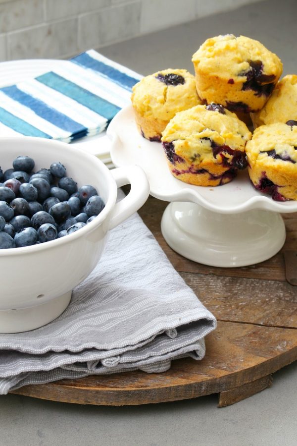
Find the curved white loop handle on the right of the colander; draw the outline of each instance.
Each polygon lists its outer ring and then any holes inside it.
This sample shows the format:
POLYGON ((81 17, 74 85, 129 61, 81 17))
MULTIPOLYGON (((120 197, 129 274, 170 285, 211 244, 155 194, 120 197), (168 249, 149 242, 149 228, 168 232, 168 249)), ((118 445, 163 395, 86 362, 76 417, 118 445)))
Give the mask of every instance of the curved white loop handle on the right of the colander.
POLYGON ((131 184, 129 194, 118 201, 112 212, 109 229, 122 223, 147 201, 149 195, 148 178, 139 166, 125 166, 110 170, 118 187, 131 184))

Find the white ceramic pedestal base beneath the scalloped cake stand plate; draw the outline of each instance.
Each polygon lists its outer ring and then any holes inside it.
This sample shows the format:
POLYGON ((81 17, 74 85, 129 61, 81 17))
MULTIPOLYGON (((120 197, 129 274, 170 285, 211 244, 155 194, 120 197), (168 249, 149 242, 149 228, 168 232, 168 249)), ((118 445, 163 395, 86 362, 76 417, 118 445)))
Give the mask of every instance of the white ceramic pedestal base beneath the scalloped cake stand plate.
POLYGON ((168 245, 187 259, 226 268, 263 262, 282 248, 286 238, 285 224, 276 212, 219 214, 183 202, 167 206, 161 231, 168 245))

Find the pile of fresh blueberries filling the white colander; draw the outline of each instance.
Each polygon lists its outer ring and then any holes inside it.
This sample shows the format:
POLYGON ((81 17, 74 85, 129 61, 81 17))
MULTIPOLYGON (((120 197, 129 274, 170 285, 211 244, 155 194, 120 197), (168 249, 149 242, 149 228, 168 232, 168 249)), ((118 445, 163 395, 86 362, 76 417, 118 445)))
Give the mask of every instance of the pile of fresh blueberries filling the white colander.
POLYGON ((80 188, 59 162, 34 172, 31 157, 0 167, 0 249, 36 245, 77 231, 104 208, 95 187, 80 188))

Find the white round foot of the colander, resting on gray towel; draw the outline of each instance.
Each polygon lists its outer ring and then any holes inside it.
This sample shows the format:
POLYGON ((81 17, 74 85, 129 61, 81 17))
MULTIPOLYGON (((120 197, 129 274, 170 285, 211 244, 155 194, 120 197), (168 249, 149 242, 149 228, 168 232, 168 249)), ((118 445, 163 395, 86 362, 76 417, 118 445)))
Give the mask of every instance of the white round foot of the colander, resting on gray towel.
MULTIPOLYGON (((0 310, 0 333, 21 333, 42 327, 60 316, 69 305, 72 291, 35 307, 0 310)), ((40 296, 42 300, 42 296, 40 296)))

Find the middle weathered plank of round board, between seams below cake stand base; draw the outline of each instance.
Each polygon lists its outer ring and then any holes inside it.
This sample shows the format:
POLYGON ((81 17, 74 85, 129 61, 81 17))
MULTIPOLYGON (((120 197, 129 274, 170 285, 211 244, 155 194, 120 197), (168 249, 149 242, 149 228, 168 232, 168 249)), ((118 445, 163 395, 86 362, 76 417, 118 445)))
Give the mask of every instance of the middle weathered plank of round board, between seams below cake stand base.
POLYGON ((181 276, 217 319, 297 328, 297 288, 288 282, 193 273, 181 276))

